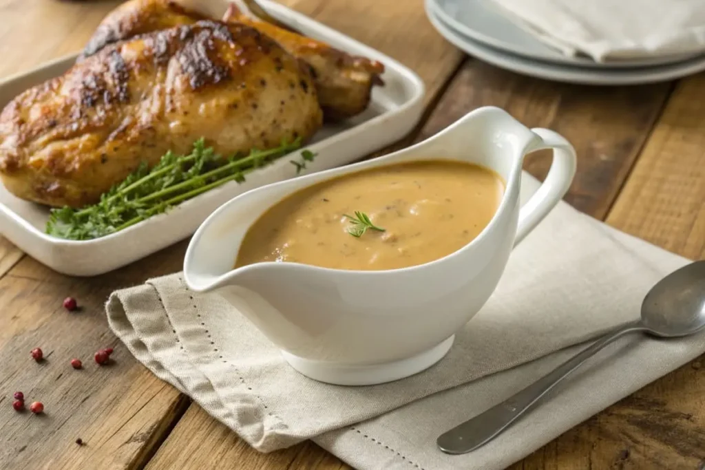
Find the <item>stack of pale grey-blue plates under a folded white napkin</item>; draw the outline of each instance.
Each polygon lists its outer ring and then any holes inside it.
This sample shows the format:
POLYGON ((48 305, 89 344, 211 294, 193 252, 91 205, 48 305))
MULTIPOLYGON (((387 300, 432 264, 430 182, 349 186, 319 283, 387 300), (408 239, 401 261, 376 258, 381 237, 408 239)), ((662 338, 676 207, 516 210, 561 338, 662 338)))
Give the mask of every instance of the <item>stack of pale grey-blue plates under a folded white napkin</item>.
POLYGON ((491 0, 426 0, 443 37, 494 66, 532 77, 588 85, 662 82, 705 70, 705 54, 596 62, 566 56, 503 16, 491 0))

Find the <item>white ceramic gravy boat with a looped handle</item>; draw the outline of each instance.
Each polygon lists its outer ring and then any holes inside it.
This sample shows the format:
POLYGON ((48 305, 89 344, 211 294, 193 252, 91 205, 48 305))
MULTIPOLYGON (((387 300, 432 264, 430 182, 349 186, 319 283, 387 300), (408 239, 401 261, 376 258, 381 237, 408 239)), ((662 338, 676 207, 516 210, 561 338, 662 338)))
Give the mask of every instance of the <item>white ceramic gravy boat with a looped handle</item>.
POLYGON ((513 246, 568 190, 575 160, 571 145, 556 132, 529 130, 501 109, 480 108, 407 149, 259 187, 223 204, 192 237, 185 282, 196 292, 222 295, 305 376, 339 385, 410 376, 439 361, 454 334, 489 299, 513 246), (545 148, 554 149, 551 170, 520 208, 524 156, 545 148), (494 218, 457 252, 388 271, 274 262, 233 269, 247 229, 289 194, 364 168, 428 159, 478 163, 506 182, 494 218))

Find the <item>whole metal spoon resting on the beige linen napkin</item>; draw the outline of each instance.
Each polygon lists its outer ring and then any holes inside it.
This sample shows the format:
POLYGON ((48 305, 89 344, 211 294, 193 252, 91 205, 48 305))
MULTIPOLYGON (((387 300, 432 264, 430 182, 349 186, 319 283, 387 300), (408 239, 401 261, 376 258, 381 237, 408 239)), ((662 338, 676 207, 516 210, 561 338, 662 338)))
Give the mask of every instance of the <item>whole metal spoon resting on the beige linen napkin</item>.
POLYGON ((660 338, 696 333, 705 326, 705 261, 695 261, 661 279, 642 302, 642 319, 607 333, 524 390, 439 436, 447 454, 465 454, 494 439, 589 357, 617 338, 642 331, 660 338))

